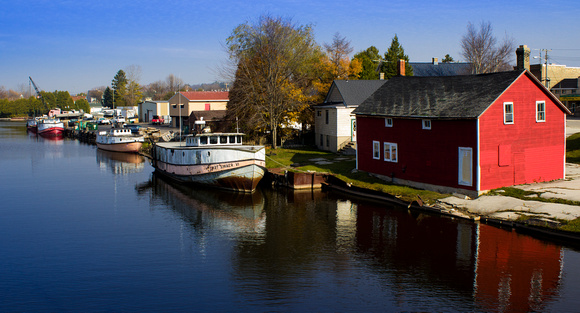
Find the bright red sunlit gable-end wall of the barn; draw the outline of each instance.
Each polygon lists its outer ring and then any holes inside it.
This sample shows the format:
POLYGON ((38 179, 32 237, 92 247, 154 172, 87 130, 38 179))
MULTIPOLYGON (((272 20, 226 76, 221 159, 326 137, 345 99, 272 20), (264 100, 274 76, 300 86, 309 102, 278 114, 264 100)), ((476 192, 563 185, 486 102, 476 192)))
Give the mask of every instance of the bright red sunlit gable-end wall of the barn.
POLYGON ((481 190, 564 178, 565 114, 526 75, 480 117, 479 130, 481 190), (546 102, 545 122, 536 122, 536 101, 546 102), (513 124, 503 123, 504 102, 514 104, 513 124), (505 147, 511 156, 500 158, 505 147))

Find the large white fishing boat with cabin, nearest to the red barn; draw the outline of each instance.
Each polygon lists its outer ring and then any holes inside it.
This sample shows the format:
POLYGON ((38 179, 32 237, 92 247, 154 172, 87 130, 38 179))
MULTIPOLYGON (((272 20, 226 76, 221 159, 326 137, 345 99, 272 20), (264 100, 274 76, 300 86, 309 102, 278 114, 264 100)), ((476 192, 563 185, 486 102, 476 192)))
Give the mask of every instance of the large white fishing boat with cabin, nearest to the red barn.
POLYGON ((253 192, 264 177, 266 148, 242 144, 241 133, 203 133, 158 142, 153 167, 177 181, 253 192))

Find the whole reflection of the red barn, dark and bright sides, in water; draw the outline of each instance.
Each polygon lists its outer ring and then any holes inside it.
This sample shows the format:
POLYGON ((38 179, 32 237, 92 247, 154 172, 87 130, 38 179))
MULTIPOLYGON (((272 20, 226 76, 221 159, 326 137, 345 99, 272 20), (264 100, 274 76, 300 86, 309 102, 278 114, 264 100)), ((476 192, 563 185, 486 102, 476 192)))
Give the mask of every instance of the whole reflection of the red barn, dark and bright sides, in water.
POLYGON ((486 312, 541 311, 557 297, 563 266, 558 245, 412 211, 367 205, 357 211, 359 251, 394 273, 390 283, 401 297, 412 288, 425 295, 445 289, 473 298, 471 309, 486 312))

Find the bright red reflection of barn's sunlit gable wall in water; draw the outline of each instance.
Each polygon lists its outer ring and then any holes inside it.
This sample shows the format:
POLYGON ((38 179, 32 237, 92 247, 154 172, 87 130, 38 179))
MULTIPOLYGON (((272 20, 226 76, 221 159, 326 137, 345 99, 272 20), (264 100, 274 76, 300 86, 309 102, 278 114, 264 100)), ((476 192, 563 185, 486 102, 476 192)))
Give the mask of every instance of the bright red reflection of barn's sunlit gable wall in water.
POLYGON ((558 297, 560 246, 481 225, 478 251, 474 295, 483 310, 539 312, 558 297))

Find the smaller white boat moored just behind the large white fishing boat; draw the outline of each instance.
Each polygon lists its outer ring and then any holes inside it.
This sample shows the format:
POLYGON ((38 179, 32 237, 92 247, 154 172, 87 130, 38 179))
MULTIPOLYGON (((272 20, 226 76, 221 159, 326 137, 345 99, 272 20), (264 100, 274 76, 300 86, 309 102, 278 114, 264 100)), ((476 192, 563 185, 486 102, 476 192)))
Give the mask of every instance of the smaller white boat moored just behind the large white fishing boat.
POLYGON ((128 128, 112 128, 97 133, 97 148, 115 152, 139 152, 145 138, 133 135, 128 128))

